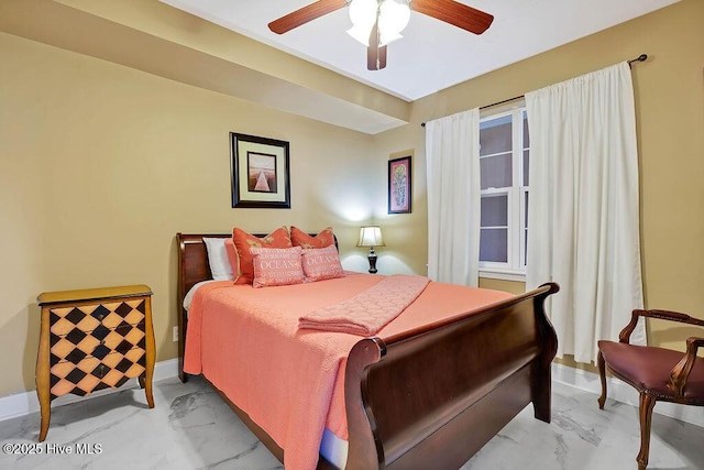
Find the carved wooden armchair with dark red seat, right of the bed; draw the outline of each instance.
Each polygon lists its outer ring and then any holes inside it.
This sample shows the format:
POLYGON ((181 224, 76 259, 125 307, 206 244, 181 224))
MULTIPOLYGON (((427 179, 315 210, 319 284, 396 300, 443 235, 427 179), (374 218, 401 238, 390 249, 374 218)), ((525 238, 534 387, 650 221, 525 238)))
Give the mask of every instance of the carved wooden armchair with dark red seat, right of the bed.
MULTIPOLYGON (((598 407, 606 402, 606 369, 635 387, 640 394, 640 452, 636 458, 638 470, 648 466, 650 424, 656 402, 704 406, 704 358, 697 349, 704 346, 702 337, 686 340, 686 352, 653 346, 630 345, 630 334, 638 318, 649 317, 704 327, 704 320, 668 310, 634 310, 630 323, 618 335, 618 342, 598 341, 598 373, 602 396, 598 407)), ((684 346, 684 345, 683 345, 684 346)))

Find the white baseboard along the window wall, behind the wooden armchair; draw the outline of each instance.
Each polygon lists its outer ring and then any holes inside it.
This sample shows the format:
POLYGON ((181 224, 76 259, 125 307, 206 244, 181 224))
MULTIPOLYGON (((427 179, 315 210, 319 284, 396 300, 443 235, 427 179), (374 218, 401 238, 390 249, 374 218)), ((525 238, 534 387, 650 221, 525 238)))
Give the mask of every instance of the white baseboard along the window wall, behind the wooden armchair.
MULTIPOLYGON (((552 363, 552 380, 585 392, 602 394, 598 374, 582 369, 552 363)), ((636 389, 615 378, 606 379, 606 397, 638 407, 639 396, 636 389)), ((598 406, 596 400, 594 406, 598 406)), ((696 426, 704 427, 704 407, 678 405, 668 402, 657 402, 653 413, 670 416, 696 426)))

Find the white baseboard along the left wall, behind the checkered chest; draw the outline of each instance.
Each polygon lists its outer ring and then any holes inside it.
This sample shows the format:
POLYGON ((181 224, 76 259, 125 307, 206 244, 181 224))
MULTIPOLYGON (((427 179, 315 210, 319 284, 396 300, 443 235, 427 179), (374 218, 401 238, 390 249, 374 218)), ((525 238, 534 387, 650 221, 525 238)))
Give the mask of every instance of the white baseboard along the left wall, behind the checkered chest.
MULTIPOLYGON (((178 359, 169 359, 154 364, 154 382, 175 376, 178 376, 178 359)), ((103 396, 133 386, 136 386, 136 379, 127 381, 119 389, 103 389, 87 396, 77 396, 72 394, 63 395, 53 400, 52 406, 61 406, 68 403, 75 403, 80 400, 103 396)), ((16 393, 14 395, 0 397, 0 422, 18 416, 29 415, 30 413, 36 413, 38 411, 40 401, 36 397, 36 391, 34 390, 31 392, 16 393)))

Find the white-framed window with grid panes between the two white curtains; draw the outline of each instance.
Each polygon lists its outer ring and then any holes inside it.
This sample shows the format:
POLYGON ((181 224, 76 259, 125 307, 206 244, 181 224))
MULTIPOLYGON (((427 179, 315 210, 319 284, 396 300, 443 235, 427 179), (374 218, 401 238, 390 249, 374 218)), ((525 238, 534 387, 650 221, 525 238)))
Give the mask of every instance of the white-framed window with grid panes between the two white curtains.
POLYGON ((522 280, 530 144, 525 105, 480 121, 480 275, 522 280))

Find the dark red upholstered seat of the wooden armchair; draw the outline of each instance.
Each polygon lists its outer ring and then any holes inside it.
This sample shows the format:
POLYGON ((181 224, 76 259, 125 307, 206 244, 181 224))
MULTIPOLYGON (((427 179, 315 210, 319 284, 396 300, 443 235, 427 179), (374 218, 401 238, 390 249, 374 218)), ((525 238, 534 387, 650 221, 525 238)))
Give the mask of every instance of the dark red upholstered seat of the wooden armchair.
MULTIPOLYGON (((681 402, 668 387, 670 372, 684 357, 684 352, 652 346, 636 346, 625 342, 598 341, 604 360, 613 372, 639 392, 645 390, 661 397, 681 402)), ((697 358, 684 389, 684 400, 704 400, 704 359, 697 358)))

